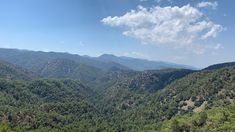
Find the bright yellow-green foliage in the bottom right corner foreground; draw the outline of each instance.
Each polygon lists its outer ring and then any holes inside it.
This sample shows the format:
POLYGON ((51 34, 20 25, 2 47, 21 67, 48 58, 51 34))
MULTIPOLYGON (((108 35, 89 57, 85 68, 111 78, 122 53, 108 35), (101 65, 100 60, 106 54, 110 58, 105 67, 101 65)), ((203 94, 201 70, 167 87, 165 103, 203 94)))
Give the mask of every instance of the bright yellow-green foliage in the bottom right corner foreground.
POLYGON ((162 122, 159 131, 235 131, 235 105, 214 107, 201 113, 177 116, 162 122))

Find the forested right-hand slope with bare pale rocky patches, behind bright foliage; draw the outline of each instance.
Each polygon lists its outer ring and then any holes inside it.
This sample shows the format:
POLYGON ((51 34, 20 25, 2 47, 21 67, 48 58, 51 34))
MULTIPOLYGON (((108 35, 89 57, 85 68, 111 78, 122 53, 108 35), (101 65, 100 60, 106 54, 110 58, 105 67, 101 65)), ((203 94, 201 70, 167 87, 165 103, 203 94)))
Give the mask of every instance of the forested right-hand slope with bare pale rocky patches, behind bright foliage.
POLYGON ((189 74, 156 93, 119 87, 107 94, 100 109, 123 130, 153 131, 158 122, 176 115, 234 104, 234 97, 235 67, 225 67, 189 74))

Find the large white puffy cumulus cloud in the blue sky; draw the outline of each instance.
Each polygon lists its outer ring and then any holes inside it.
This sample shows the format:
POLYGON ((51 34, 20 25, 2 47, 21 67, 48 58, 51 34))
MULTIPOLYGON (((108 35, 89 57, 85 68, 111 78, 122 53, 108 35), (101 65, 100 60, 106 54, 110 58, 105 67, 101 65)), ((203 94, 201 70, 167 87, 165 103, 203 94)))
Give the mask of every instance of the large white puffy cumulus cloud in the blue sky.
POLYGON ((203 12, 189 4, 182 7, 138 6, 123 16, 108 16, 101 22, 112 27, 123 27, 124 35, 136 38, 143 44, 171 44, 191 49, 196 47, 196 50, 200 49, 199 54, 204 49, 213 48, 198 43, 215 38, 224 29, 206 19, 203 12))

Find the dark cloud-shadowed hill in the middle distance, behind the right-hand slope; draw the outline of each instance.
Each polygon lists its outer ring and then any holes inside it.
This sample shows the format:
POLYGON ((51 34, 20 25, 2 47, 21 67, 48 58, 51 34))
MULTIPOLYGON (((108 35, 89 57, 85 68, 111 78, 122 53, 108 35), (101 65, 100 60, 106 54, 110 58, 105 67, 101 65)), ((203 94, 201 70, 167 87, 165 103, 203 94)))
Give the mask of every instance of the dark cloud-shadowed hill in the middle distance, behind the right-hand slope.
POLYGON ((194 71, 186 69, 164 69, 139 72, 136 76, 123 80, 117 87, 127 87, 135 92, 156 92, 176 79, 194 71))

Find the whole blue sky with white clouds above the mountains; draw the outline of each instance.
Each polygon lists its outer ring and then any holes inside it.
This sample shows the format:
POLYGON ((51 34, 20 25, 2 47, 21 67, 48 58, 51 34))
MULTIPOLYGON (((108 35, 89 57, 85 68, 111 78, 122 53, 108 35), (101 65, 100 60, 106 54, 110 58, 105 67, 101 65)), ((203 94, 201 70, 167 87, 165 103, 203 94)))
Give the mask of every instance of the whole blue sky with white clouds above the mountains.
POLYGON ((0 47, 206 67, 235 61, 233 0, 0 0, 0 47))

